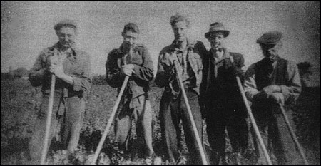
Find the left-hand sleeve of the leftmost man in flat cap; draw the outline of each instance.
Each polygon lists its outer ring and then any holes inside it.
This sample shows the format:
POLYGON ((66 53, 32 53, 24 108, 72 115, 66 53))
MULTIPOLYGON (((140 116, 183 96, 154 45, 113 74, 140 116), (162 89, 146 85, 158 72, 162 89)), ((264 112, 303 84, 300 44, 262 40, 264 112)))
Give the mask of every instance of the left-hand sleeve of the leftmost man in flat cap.
POLYGON ((46 68, 46 51, 41 51, 34 66, 29 73, 29 81, 33 86, 39 86, 44 83, 45 76, 49 74, 46 68))

